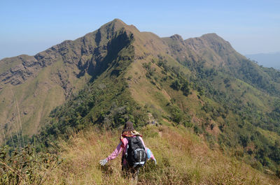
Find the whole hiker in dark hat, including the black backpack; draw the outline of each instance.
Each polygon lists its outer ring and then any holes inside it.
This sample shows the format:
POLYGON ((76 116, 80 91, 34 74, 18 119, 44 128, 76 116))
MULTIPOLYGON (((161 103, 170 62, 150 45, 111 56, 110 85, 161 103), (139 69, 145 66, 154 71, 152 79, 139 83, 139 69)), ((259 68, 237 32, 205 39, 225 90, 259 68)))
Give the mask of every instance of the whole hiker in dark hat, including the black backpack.
POLYGON ((155 165, 157 163, 151 150, 146 148, 142 139, 142 135, 134 130, 133 124, 130 121, 127 121, 125 123, 118 147, 110 156, 103 160, 100 160, 100 165, 103 166, 108 163, 108 161, 116 158, 122 150, 122 171, 125 173, 125 176, 132 175, 132 178, 136 182, 138 178, 139 168, 146 163, 147 159, 152 159, 155 162, 155 165))

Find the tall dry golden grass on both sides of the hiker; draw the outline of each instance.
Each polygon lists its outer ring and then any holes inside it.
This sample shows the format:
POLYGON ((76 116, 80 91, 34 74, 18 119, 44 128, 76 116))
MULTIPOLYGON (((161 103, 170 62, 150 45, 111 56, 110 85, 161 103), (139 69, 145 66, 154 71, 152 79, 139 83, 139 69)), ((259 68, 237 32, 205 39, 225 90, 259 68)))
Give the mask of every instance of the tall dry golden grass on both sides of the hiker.
MULTIPOLYGON (((158 165, 148 161, 139 184, 280 184, 279 179, 210 150, 185 128, 146 126, 141 132, 158 165)), ((98 163, 115 149, 118 137, 118 131, 92 129, 62 142, 64 163, 51 172, 47 184, 129 184, 121 174, 120 156, 104 168, 98 163)))

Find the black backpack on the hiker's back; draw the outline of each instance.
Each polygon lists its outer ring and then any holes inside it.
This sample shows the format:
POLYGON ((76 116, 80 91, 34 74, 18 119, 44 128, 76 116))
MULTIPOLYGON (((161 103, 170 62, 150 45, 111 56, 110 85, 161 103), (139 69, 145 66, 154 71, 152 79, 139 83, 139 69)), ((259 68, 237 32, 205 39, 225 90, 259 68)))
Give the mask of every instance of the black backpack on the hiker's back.
POLYGON ((128 143, 125 158, 127 159, 128 165, 130 168, 143 166, 147 161, 147 154, 139 136, 127 138, 127 140, 128 143))

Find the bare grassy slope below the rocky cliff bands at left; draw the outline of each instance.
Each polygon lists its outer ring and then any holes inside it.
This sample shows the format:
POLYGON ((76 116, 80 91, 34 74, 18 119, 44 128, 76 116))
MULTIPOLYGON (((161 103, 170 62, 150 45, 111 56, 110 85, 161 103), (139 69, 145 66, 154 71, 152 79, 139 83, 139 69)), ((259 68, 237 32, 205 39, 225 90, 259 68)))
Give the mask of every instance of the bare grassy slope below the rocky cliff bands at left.
MULTIPOLYGON (((48 118, 50 111, 64 103, 66 96, 56 75, 59 68, 63 68, 64 71, 68 71, 67 73, 70 74, 65 78, 75 87, 74 92, 83 88, 83 84, 90 80, 87 75, 79 79, 73 77, 73 71, 77 71, 77 68, 72 69, 60 61, 52 66, 43 68, 35 79, 27 80, 24 84, 17 86, 7 84, 0 93, 2 102, 0 104, 0 111, 2 112, 1 124, 6 124, 6 121, 9 120, 8 127, 5 130, 6 135, 18 130, 19 127, 17 128, 16 125, 20 124, 20 119, 24 134, 37 133, 40 124, 42 124, 41 122, 48 118), (15 101, 18 103, 20 118, 15 107, 15 101)), ((1 134, 0 142, 2 140, 3 135, 1 134)))

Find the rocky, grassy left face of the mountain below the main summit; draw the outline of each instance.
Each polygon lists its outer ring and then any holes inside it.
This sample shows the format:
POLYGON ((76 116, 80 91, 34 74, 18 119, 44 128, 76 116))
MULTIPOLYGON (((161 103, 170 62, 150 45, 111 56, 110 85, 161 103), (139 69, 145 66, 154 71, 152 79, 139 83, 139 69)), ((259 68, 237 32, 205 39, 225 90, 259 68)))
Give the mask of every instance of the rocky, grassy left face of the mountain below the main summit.
POLYGON ((18 130, 20 124, 23 133, 37 133, 50 110, 102 73, 108 57, 126 44, 116 44, 119 39, 125 39, 121 38, 125 36, 120 30, 122 26, 121 21, 111 22, 82 38, 66 40, 35 56, 2 59, 0 120, 5 134, 18 130), (120 33, 116 33, 117 30, 120 33))

